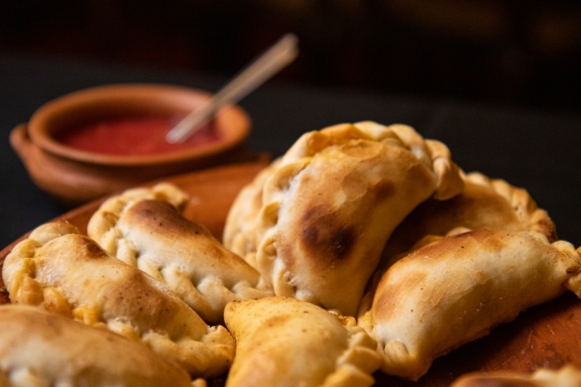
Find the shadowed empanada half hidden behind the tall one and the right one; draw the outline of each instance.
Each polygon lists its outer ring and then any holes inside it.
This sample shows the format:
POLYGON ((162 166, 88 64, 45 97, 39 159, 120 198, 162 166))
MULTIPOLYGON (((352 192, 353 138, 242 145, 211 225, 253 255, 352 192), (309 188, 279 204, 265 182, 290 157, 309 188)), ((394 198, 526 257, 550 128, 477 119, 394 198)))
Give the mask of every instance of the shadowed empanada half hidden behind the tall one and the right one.
POLYGON ((446 235, 491 228, 510 232, 536 231, 557 241, 555 224, 539 209, 528 192, 504 180, 492 180, 478 172, 463 175, 464 192, 448 200, 428 199, 413 210, 393 231, 383 249, 377 272, 357 312, 371 309, 379 278, 389 266, 408 253, 446 235))

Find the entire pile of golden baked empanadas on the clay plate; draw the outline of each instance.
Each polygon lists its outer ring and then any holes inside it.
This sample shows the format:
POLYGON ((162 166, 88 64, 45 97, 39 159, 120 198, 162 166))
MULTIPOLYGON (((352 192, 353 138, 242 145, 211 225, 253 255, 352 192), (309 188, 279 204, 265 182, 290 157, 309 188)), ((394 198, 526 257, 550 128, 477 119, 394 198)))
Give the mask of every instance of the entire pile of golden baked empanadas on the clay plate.
MULTIPOLYGON (((17 244, 0 387, 415 381, 528 307, 581 298, 579 250, 525 190, 400 124, 304 134, 239 193, 224 245, 187 204, 170 184, 130 189, 88 237, 48 223, 17 244)), ((569 368, 539 375, 457 386, 578 387, 569 368)))

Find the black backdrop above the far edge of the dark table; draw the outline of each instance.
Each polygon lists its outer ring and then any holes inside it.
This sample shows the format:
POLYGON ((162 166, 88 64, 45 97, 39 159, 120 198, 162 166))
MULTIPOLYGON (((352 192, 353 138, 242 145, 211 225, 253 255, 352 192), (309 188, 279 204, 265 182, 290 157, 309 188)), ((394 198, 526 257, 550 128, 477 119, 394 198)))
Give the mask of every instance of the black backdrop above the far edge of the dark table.
POLYGON ((278 80, 579 110, 567 0, 3 0, 0 50, 231 76, 292 31, 278 80))

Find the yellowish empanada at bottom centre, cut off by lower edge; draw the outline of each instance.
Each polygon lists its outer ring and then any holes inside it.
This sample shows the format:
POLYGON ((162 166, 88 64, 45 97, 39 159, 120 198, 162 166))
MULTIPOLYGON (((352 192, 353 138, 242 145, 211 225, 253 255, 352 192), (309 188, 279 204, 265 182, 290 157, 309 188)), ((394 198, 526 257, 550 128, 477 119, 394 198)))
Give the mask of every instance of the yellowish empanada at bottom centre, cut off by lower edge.
POLYGON ((382 361, 353 317, 302 300, 231 302, 224 320, 236 339, 227 387, 371 386, 382 361))

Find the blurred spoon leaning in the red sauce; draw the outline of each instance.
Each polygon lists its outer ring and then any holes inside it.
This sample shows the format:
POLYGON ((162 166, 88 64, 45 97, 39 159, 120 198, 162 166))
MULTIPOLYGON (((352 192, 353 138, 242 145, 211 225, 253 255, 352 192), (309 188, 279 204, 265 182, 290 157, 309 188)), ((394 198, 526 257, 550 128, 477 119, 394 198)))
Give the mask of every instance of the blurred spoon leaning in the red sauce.
POLYGON ((254 89, 284 69, 299 55, 299 39, 295 34, 285 34, 260 58, 249 64, 238 76, 218 91, 212 98, 189 113, 166 135, 167 142, 184 142, 203 124, 210 121, 221 107, 244 98, 254 89))

